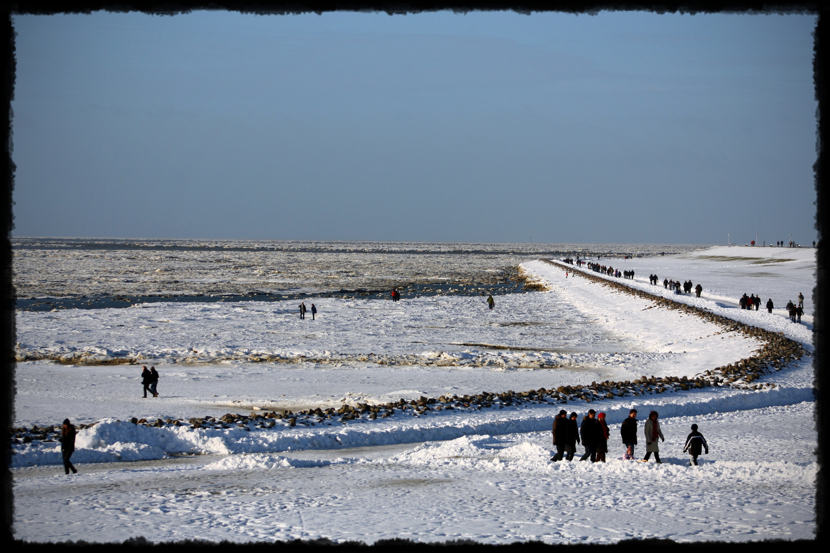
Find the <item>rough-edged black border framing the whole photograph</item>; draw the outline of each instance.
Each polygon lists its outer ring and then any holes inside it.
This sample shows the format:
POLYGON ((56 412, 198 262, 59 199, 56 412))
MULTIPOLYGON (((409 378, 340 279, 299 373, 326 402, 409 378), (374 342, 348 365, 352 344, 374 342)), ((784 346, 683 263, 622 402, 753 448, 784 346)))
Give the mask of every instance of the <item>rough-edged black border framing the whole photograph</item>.
MULTIPOLYGON (((152 2, 144 0, 126 0, 125 2, 101 2, 100 0, 22 0, 20 2, 2 2, 0 7, 0 46, 2 46, 2 97, 0 97, 0 126, 4 129, 4 152, 0 152, 0 390, 2 390, 2 403, 0 403, 0 429, 5 430, 12 423, 12 407, 16 393, 14 380, 14 356, 13 346, 16 338, 15 327, 15 289, 12 281, 12 245, 11 232, 14 228, 14 215, 12 192, 14 190, 15 165, 12 162, 12 99, 14 99, 14 80, 16 68, 15 56, 15 31, 12 27, 12 14, 52 14, 52 13, 91 13, 97 11, 109 12, 145 12, 156 15, 176 15, 192 12, 195 10, 224 10, 242 13, 257 14, 288 14, 303 12, 331 12, 331 11, 362 11, 362 12, 386 12, 389 15, 405 14, 414 12, 430 12, 437 10, 453 10, 455 12, 471 12, 476 10, 510 10, 519 13, 530 14, 531 12, 570 12, 596 14, 600 11, 652 11, 657 13, 680 12, 680 13, 813 13, 818 15, 818 22, 813 34, 813 84, 815 86, 818 109, 816 112, 816 163, 813 165, 813 174, 816 190, 816 216, 815 229, 818 230, 818 267, 816 271, 816 288, 813 289, 813 302, 816 305, 816 317, 813 324, 813 344, 815 354, 813 357, 813 394, 816 399, 815 424, 818 429, 818 474, 816 477, 816 536, 815 541, 821 543, 827 541, 827 507, 824 498, 828 493, 828 468, 826 466, 825 454, 828 447, 828 435, 823 432, 830 428, 828 424, 828 406, 823 404, 822 390, 828 387, 827 373, 827 333, 825 332, 825 313, 828 311, 828 249, 824 244, 823 230, 830 229, 830 206, 828 196, 825 193, 828 178, 828 133, 830 125, 822 125, 823 109, 828 110, 828 29, 830 29, 830 9, 821 8, 820 2, 804 1, 792 2, 788 0, 774 0, 773 2, 757 2, 751 0, 173 0, 173 2, 152 2)), ((7 443, 8 444, 8 443, 7 443)), ((2 479, 0 479, 0 501, 2 501, 2 542, 9 546, 22 546, 22 543, 14 541, 12 535, 13 521, 13 496, 12 496, 12 472, 9 468, 11 463, 11 449, 3 448, 2 451, 2 479)), ((781 542, 777 545, 784 546, 809 546, 809 542, 799 541, 798 543, 781 542)), ((80 544, 79 544, 80 545, 80 544)), ((101 544, 99 548, 110 549, 114 544, 101 544)), ((131 539, 126 541, 124 546, 149 546, 146 541, 131 539)), ((182 546, 196 546, 191 542, 179 544, 182 546)), ((302 548, 319 546, 317 543, 291 544, 291 548, 302 548)), ((447 543, 457 548, 471 549, 474 546, 471 542, 447 543)), ((545 547, 542 544, 524 544, 525 546, 545 547)), ((637 544, 631 542, 621 543, 617 548, 635 546, 642 551, 648 546, 671 546, 672 548, 687 549, 691 544, 676 544, 669 540, 642 541, 637 544)), ((691 546, 699 547, 705 544, 697 543, 691 546)), ((706 545, 716 545, 707 542, 706 545)), ((724 544, 725 545, 725 544, 724 544)), ((770 544, 771 545, 771 544, 770 544)), ((232 545, 223 543, 217 545, 222 550, 238 549, 244 545, 232 545)), ((347 548, 355 548, 358 544, 344 544, 347 548)), ((380 546, 380 544, 378 544, 380 546)), ((413 549, 417 547, 431 547, 424 544, 416 544, 409 541, 398 541, 398 543, 385 543, 383 548, 392 546, 395 549, 413 549)), ((440 545, 438 545, 441 547, 440 545)), ((96 547, 96 546, 93 546, 96 547)), ((155 546, 158 547, 158 546, 155 546)), ((330 547, 330 546, 329 546, 330 547)), ((477 546, 481 547, 481 546, 477 546)), ((504 548, 505 546, 494 546, 504 548)), ((510 546, 506 546, 510 547, 510 546)), ((546 546, 546 548, 567 547, 569 550, 574 546, 546 546)), ((608 546, 577 546, 578 549, 596 549, 608 546)), ((730 547, 749 550, 755 547, 753 543, 732 543, 730 547)), ((366 547, 359 547, 365 549, 366 547)), ((526 547, 525 547, 526 549, 526 547)))

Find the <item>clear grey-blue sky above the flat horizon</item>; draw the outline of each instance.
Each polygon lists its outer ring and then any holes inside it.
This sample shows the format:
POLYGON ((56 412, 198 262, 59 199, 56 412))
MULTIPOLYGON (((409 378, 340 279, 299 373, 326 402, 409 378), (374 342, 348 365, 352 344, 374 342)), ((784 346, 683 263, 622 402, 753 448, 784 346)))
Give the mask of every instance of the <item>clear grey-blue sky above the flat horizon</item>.
POLYGON ((813 16, 13 21, 16 236, 817 237, 813 16))

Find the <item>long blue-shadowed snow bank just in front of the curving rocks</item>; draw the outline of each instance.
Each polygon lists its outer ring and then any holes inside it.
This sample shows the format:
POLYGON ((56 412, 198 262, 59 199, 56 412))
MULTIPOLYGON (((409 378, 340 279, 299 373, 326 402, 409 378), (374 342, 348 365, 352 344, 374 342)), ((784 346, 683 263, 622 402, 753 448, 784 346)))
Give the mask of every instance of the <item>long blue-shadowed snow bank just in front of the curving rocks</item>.
MULTIPOLYGON (((797 361, 800 365, 807 365, 797 361)), ((802 367, 801 370, 807 370, 802 367)), ((762 390, 709 388, 676 391, 663 395, 603 400, 594 405, 607 414, 608 423, 622 422, 632 406, 642 412, 657 410, 662 417, 700 416, 736 410, 752 410, 770 405, 793 405, 813 400, 808 387, 776 386, 762 390)), ((461 412, 425 412, 398 415, 397 420, 334 420, 311 424, 296 419, 279 421, 278 428, 265 428, 264 419, 229 420, 224 428, 193 428, 164 424, 159 427, 115 419, 101 420, 81 429, 73 459, 79 463, 137 461, 165 458, 168 454, 251 454, 302 449, 342 449, 388 444, 457 439, 466 435, 499 435, 549 430, 550 421, 560 409, 583 413, 590 401, 546 402, 502 410, 467 409, 461 412)), ((159 421, 160 422, 160 421, 159 421)), ((60 464, 59 445, 33 441, 14 446, 12 466, 60 464)))

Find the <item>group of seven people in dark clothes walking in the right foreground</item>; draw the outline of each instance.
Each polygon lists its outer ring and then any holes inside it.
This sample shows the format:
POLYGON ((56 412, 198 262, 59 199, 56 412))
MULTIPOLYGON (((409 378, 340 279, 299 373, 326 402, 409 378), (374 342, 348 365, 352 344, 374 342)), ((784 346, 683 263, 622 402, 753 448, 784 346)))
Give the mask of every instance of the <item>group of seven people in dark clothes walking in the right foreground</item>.
MULTIPOLYGON (((585 448, 585 454, 579 458, 580 461, 590 458, 591 463, 605 463, 605 455, 608 454, 608 439, 610 438, 605 413, 597 414, 593 409, 588 410, 588 414, 583 417, 579 428, 577 427, 577 416, 576 413, 568 415, 567 411, 560 410, 559 415, 554 419, 553 434, 556 454, 550 460, 554 463, 563 459, 574 460, 576 444, 581 443, 585 448)), ((657 411, 652 411, 644 425, 646 456, 639 459, 641 463, 647 463, 652 454, 654 454, 655 462, 662 463, 659 442, 665 442, 666 438, 663 436, 660 423, 657 421, 658 416, 657 411)), ((635 458, 634 448, 637 446, 636 409, 628 412, 626 420, 620 426, 620 434, 623 445, 626 447, 623 459, 633 460, 635 458)), ((688 452, 691 455, 690 466, 697 464, 697 457, 701 454, 701 449, 705 449, 706 454, 709 454, 709 444, 706 444, 703 434, 697 431, 697 424, 692 424, 691 434, 686 437, 686 444, 683 447, 683 452, 688 452)))

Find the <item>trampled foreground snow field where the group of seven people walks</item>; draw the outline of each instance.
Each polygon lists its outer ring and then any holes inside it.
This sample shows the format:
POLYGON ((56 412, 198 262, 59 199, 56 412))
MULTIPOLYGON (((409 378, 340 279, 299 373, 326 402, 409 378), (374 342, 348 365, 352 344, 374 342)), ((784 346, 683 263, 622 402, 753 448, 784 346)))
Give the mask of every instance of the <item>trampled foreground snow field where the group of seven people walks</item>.
POLYGON ((604 464, 549 463, 550 434, 540 431, 408 449, 93 465, 71 478, 56 468, 24 468, 16 473, 15 526, 24 539, 30 532, 41 540, 83 532, 88 541, 809 539, 812 414, 806 402, 664 419, 659 466, 619 460, 619 424, 612 424, 604 464), (697 468, 687 467, 680 451, 691 420, 710 444, 697 468), (806 424, 788 424, 794 420, 806 424), (43 508, 53 516, 42 517, 43 508))

